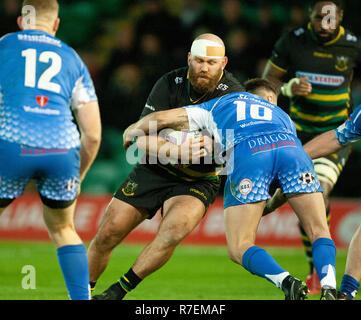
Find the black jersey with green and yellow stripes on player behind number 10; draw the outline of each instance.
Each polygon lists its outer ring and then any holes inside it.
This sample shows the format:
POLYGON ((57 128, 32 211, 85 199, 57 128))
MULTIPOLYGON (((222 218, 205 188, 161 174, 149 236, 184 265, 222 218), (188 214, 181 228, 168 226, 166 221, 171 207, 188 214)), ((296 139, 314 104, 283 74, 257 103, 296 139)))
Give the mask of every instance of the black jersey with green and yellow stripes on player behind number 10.
POLYGON ((289 78, 308 77, 312 92, 290 99, 289 113, 298 131, 319 134, 342 124, 352 111, 350 85, 361 64, 361 42, 340 27, 337 37, 319 43, 311 25, 285 33, 270 63, 289 78))

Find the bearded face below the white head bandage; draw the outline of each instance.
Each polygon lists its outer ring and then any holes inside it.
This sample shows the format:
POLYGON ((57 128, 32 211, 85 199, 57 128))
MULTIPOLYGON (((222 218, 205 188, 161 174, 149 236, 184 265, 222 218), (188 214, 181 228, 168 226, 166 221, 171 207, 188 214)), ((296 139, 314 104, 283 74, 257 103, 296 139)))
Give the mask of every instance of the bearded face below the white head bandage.
POLYGON ((222 75, 225 58, 204 58, 190 56, 188 59, 189 80, 198 93, 213 91, 222 75))

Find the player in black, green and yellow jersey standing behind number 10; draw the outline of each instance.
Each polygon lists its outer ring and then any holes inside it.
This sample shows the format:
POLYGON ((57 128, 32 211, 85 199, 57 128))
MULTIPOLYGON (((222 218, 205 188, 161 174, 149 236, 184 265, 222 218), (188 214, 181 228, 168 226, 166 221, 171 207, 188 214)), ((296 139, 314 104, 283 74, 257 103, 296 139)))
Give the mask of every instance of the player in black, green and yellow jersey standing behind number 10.
MULTIPOLYGON (((342 27, 343 2, 311 1, 307 26, 285 33, 275 44, 264 77, 281 87, 290 98, 289 114, 303 143, 341 125, 352 111, 350 85, 361 65, 361 42, 342 27), (281 81, 288 81, 282 83, 281 81)), ((321 182, 328 221, 329 195, 349 157, 350 147, 314 160, 321 182)), ((267 203, 265 214, 285 202, 279 190, 267 203)), ((311 293, 320 290, 313 268, 311 243, 302 227, 310 273, 311 293)))

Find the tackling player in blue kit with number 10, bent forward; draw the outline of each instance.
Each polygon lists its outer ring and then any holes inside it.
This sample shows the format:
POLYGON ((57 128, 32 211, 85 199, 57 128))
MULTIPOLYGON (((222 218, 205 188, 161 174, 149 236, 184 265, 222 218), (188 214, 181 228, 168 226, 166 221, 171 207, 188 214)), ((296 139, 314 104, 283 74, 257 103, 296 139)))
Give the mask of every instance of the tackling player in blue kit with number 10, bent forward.
MULTIPOLYGON (((246 270, 282 289, 287 300, 303 300, 307 286, 262 248, 256 232, 271 184, 280 187, 312 242, 321 299, 336 299, 336 248, 325 217, 322 190, 313 164, 290 117, 275 104, 277 91, 265 79, 246 83, 248 92, 230 93, 198 105, 152 113, 124 133, 127 148, 149 127, 210 131, 228 153, 224 189, 229 256, 246 270)), ((220 153, 220 154, 221 154, 220 153)))

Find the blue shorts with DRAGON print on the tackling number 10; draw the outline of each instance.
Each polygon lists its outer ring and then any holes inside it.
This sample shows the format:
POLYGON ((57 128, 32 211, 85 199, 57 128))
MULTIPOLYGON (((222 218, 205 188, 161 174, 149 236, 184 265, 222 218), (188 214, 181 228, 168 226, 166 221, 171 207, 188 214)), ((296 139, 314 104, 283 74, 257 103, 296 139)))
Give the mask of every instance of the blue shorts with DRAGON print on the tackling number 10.
POLYGON ((270 186, 284 194, 322 192, 310 157, 291 134, 252 137, 234 147, 227 161, 224 208, 270 198, 270 186))

